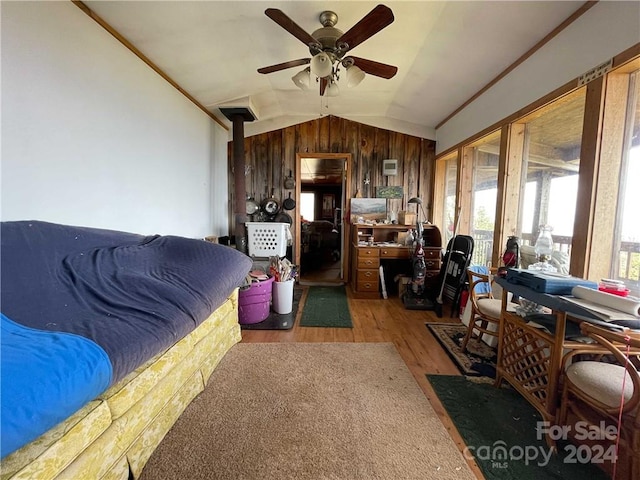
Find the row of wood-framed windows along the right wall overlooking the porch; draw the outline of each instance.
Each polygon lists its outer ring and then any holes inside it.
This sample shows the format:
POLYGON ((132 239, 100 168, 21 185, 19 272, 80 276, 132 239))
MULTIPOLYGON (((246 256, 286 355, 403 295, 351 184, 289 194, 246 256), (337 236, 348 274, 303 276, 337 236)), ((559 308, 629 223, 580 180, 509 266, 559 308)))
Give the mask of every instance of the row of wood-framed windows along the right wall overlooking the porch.
POLYGON ((526 251, 536 261, 540 225, 550 225, 552 259, 563 269, 594 281, 623 280, 640 296, 637 46, 612 63, 614 70, 603 77, 578 88, 578 79, 569 82, 554 92, 557 97, 538 99, 494 124, 493 133, 478 133, 436 158, 433 218, 443 234, 452 232, 454 195, 445 179, 449 162, 457 159, 454 210, 458 232, 476 241, 474 263, 487 263, 491 253, 500 262, 501 246, 492 244, 517 235, 526 268, 526 251))

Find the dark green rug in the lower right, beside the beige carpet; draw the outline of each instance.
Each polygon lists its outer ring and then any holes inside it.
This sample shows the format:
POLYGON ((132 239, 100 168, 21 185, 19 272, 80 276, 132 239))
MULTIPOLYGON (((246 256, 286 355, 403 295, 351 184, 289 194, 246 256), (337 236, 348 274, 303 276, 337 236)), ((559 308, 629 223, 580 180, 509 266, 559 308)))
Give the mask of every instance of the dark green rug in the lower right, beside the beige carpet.
POLYGON ((550 453, 544 436, 538 439, 542 417, 511 387, 498 389, 463 375, 427 379, 467 445, 465 456, 475 458, 485 478, 608 478, 591 463, 598 456, 595 449, 576 452, 574 445, 558 442, 559 453, 550 453))

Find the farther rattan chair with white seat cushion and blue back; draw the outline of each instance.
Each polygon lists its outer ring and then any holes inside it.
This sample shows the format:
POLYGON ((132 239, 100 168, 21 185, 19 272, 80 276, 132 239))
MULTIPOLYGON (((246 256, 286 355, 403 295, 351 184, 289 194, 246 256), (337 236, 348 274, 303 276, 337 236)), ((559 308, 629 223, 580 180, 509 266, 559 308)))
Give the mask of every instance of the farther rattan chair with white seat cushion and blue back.
POLYGON ((492 280, 489 274, 468 268, 467 276, 469 279, 471 318, 467 327, 467 335, 461 345, 463 352, 466 352, 467 343, 472 338, 481 339, 483 334, 498 337, 502 309, 502 300, 493 297, 491 290, 492 280))

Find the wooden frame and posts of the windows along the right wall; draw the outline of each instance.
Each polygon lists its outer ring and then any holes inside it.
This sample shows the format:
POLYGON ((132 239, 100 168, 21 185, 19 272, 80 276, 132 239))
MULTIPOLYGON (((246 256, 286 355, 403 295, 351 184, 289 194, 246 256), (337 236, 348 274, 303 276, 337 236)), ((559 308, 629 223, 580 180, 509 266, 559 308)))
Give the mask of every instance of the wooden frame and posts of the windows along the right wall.
MULTIPOLYGON (((570 273, 582 278, 597 280, 605 278, 609 274, 608 266, 610 265, 610 252, 612 251, 615 227, 611 225, 608 228, 608 224, 615 222, 615 216, 611 215, 611 207, 612 201, 617 201, 617 195, 609 196, 614 197, 614 200, 610 200, 603 198, 606 197, 605 195, 598 196, 597 191, 598 189, 606 191, 603 189, 606 189, 607 186, 610 188, 612 180, 605 172, 616 170, 612 168, 611 164, 605 163, 605 158, 610 159, 610 156, 614 155, 616 151, 619 153, 618 157, 621 158, 620 149, 623 143, 621 137, 624 132, 623 129, 620 129, 620 123, 617 123, 620 113, 619 108, 615 108, 615 105, 620 101, 626 102, 628 88, 626 90, 622 88, 624 86, 624 76, 626 75, 628 78, 628 74, 637 70, 638 65, 640 65, 640 43, 616 55, 613 58, 611 72, 587 84, 580 148, 580 180, 570 264, 570 273), (614 101, 614 98, 617 100, 614 101), (596 228, 596 225, 598 225, 598 228, 596 228), (606 269, 604 268, 605 264, 607 266, 606 269)), ((518 142, 523 141, 519 140, 522 135, 519 133, 519 125, 521 124, 518 123, 518 120, 581 87, 583 85, 579 84, 579 79, 571 80, 530 105, 514 112, 507 118, 496 122, 436 156, 435 185, 438 185, 444 182, 443 172, 437 168, 438 161, 451 155, 452 152, 458 153, 456 211, 461 212, 460 215, 462 217, 459 221, 458 233, 468 233, 471 230, 469 202, 473 178, 470 172, 473 159, 470 158, 468 148, 478 139, 497 129, 501 130, 498 197, 492 252, 493 265, 499 264, 502 246, 506 243, 507 237, 512 235, 512 232, 518 231, 518 215, 513 215, 506 208, 507 205, 512 203, 509 200, 513 200, 516 196, 518 201, 521 201, 522 158, 518 158, 518 155, 514 153, 518 151, 518 142), (464 208, 465 206, 466 208, 464 208)), ((618 171, 619 168, 615 173, 617 174, 618 171)), ((436 192, 437 189, 434 189, 434 195, 436 192)), ((433 205, 437 205, 438 202, 442 201, 441 196, 440 198, 432 198, 433 205)), ((518 211, 520 211, 520 208, 518 211)))

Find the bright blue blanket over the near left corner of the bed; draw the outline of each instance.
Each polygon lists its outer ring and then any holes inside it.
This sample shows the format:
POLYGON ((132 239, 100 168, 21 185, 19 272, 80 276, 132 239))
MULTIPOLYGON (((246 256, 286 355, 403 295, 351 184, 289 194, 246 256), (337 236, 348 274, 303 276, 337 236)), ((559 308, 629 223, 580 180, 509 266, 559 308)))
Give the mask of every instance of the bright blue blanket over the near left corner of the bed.
POLYGON ((104 391, 111 363, 86 338, 23 327, 2 314, 0 321, 4 457, 104 391))

